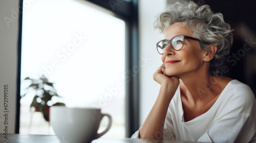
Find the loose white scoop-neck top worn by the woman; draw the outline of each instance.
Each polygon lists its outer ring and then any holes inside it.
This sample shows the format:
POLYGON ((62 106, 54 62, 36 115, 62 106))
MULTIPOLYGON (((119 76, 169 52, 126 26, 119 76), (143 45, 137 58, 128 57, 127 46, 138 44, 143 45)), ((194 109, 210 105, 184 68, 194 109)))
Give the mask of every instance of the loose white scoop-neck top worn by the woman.
MULTIPOLYGON (((139 130, 132 138, 139 138, 139 130)), ((250 87, 230 81, 204 114, 184 122, 180 87, 170 101, 163 139, 201 142, 256 142, 256 101, 250 87)))

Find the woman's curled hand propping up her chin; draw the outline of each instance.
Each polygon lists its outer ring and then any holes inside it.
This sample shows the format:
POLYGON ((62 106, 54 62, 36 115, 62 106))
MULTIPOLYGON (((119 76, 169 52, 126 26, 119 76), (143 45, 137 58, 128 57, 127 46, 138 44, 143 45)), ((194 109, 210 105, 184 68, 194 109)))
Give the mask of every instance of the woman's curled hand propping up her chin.
POLYGON ((180 80, 178 77, 167 76, 165 74, 165 65, 162 64, 153 75, 153 79, 160 85, 172 84, 174 87, 179 86, 180 80))

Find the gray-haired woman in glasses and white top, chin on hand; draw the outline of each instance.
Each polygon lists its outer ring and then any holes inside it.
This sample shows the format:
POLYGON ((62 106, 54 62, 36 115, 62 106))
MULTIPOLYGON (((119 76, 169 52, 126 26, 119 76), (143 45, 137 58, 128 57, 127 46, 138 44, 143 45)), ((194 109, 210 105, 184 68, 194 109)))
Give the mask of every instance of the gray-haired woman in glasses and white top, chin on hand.
POLYGON ((202 142, 256 142, 256 102, 251 89, 217 76, 232 44, 220 13, 193 2, 167 7, 155 21, 163 64, 153 78, 161 87, 132 138, 202 142))

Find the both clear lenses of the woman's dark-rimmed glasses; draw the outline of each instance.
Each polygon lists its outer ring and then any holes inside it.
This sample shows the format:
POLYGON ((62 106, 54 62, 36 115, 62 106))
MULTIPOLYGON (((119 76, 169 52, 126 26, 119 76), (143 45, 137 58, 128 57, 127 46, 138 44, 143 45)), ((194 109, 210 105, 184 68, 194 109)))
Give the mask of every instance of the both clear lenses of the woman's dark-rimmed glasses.
MULTIPOLYGON (((170 41, 170 43, 172 44, 172 47, 174 50, 180 50, 183 46, 184 43, 184 37, 182 36, 176 36, 172 39, 172 41, 170 41)), ((165 50, 165 48, 168 45, 168 40, 161 40, 158 45, 157 45, 157 50, 160 54, 163 54, 163 51, 165 50)))

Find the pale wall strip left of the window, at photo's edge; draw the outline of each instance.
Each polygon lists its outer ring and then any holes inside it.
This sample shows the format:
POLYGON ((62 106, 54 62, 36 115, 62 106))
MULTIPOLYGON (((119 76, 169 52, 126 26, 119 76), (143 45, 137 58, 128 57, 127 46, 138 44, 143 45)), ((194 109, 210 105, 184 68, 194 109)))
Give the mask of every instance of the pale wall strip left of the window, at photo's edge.
POLYGON ((18 0, 0 1, 0 133, 5 126, 8 133, 15 132, 18 5, 18 0), (4 85, 8 85, 8 118, 4 116, 4 85), (4 125, 6 120, 8 125, 4 125))

